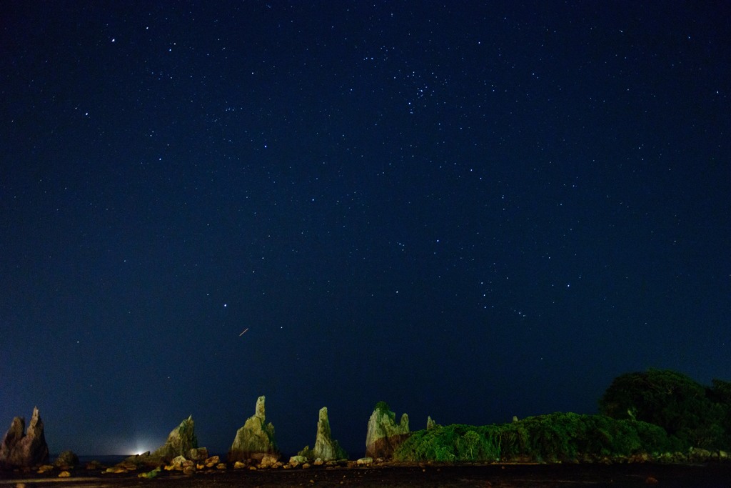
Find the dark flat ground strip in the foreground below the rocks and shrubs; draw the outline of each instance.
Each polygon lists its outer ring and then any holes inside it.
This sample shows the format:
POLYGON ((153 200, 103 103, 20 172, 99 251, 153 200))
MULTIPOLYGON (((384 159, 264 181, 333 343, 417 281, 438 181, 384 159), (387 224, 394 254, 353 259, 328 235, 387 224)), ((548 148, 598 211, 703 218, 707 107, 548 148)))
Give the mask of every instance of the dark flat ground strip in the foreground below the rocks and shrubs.
POLYGON ((0 488, 173 487, 731 487, 731 465, 425 465, 161 473, 155 479, 77 470, 72 478, 0 473, 0 488))

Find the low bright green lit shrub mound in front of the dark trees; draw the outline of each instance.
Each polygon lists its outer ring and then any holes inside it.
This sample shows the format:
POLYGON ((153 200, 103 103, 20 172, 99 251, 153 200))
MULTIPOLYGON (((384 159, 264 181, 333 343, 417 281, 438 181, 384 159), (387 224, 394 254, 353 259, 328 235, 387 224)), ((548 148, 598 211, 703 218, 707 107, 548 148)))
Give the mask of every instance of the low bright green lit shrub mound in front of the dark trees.
POLYGON ((656 425, 602 415, 552 413, 510 424, 453 424, 414 432, 398 447, 401 461, 580 461, 673 450, 656 425))

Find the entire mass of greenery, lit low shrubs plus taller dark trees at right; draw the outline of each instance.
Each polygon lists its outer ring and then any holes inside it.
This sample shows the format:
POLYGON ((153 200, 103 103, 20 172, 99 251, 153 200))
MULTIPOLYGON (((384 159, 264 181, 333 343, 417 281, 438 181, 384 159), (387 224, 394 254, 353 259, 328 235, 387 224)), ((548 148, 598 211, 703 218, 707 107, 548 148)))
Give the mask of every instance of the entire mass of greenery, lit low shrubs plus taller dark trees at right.
POLYGON ((713 380, 707 387, 678 372, 650 369, 616 378, 599 406, 599 415, 552 413, 510 424, 420 430, 394 459, 591 462, 731 450, 731 383, 713 380))

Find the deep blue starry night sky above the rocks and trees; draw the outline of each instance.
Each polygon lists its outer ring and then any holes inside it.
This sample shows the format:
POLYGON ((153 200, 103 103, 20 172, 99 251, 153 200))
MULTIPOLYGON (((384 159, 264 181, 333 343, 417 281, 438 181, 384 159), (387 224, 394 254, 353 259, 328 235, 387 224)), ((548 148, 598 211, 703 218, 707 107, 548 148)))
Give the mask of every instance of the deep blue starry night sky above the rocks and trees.
POLYGON ((379 400, 731 380, 727 3, 444 3, 2 2, 1 431, 225 453, 266 395, 355 458, 379 400))

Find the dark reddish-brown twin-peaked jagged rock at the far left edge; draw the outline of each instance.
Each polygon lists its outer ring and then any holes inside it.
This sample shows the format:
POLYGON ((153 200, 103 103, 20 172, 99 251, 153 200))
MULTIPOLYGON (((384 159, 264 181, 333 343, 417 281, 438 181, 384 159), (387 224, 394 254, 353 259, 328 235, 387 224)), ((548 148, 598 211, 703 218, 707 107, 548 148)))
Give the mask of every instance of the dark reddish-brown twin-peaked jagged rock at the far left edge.
POLYGON ((12 419, 10 429, 0 443, 0 466, 36 466, 48 464, 48 444, 43 433, 43 421, 38 408, 33 408, 31 423, 26 430, 26 420, 12 419))

